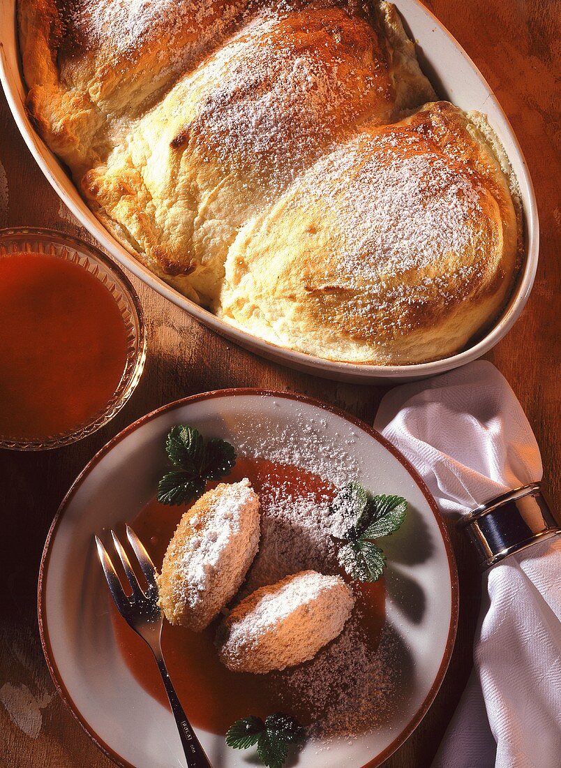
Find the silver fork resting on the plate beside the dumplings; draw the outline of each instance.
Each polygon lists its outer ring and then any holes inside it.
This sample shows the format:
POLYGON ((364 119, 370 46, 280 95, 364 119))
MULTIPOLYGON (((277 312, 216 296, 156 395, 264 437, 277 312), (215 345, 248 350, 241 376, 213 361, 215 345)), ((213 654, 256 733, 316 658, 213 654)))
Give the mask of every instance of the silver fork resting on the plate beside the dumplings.
POLYGON ((133 529, 127 525, 127 538, 130 542, 130 546, 134 550, 134 554, 136 554, 138 558, 140 568, 142 569, 148 584, 147 590, 144 591, 140 588, 140 584, 130 565, 127 553, 124 551, 123 545, 121 545, 114 531, 111 531, 111 537, 113 538, 115 551, 123 564, 127 581, 132 590, 130 595, 125 594, 119 577, 117 576, 117 571, 115 571, 114 564, 111 562, 111 558, 107 554, 104 545, 101 544, 100 539, 96 536, 95 543, 97 545, 97 556, 101 562, 101 567, 104 569, 107 585, 111 591, 117 610, 129 627, 132 627, 132 629, 142 637, 154 654, 154 658, 156 659, 158 669, 162 676, 163 685, 166 689, 167 698, 170 700, 171 711, 173 712, 173 717, 175 717, 177 729, 180 732, 180 739, 187 760, 187 768, 212 768, 204 753, 203 747, 200 745, 189 720, 187 720, 186 715, 183 712, 183 707, 180 704, 180 700, 177 698, 175 689, 171 684, 170 675, 167 672, 166 664, 163 661, 162 647, 160 643, 163 624, 162 611, 158 605, 158 588, 155 576, 156 569, 153 566, 153 562, 150 560, 150 555, 147 553, 146 549, 144 549, 144 545, 142 544, 142 541, 140 541, 140 538, 138 538, 133 529))

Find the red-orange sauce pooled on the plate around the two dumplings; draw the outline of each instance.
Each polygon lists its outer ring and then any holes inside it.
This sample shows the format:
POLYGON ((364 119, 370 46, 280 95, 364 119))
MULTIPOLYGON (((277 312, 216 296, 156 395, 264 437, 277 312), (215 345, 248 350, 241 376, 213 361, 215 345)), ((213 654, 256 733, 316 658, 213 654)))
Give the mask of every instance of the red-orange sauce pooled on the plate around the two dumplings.
MULTIPOLYGON (((238 482, 243 478, 249 478, 261 499, 260 551, 246 581, 251 590, 256 579, 259 584, 272 583, 286 571, 292 573, 313 564, 314 549, 321 548, 322 539, 310 536, 315 525, 312 518, 311 527, 306 527, 305 512, 312 512, 314 507, 325 508, 335 497, 337 488, 312 472, 264 458, 238 458, 223 482, 238 482), (272 568, 270 576, 269 568, 272 568), (276 568, 282 569, 280 573, 273 572, 276 568)), ((213 485, 216 483, 209 483, 207 489, 213 485)), ((153 499, 130 521, 158 569, 186 509, 186 505, 164 506, 153 499)), ((318 552, 317 557, 322 560, 321 553, 318 552)), ((353 588, 357 598, 354 621, 349 620, 342 635, 320 650, 314 660, 281 673, 233 672, 221 664, 214 640, 222 616, 203 632, 164 621, 163 654, 177 695, 193 726, 224 734, 240 717, 249 714, 266 717, 282 710, 295 715, 308 727, 318 718, 316 709, 327 709, 324 697, 343 702, 349 697, 349 719, 358 722, 360 710, 371 723, 372 710, 381 709, 381 701, 371 695, 364 678, 372 677, 372 686, 378 685, 369 665, 375 660, 385 621, 384 580, 375 584, 353 584, 353 588), (361 681, 358 693, 364 694, 363 701, 357 700, 354 677, 361 681)), ((166 694, 149 648, 128 627, 108 594, 107 604, 117 646, 127 667, 140 685, 165 705, 166 694)), ((335 729, 345 731, 346 723, 341 722, 346 719, 345 713, 335 713, 333 718, 335 729)))

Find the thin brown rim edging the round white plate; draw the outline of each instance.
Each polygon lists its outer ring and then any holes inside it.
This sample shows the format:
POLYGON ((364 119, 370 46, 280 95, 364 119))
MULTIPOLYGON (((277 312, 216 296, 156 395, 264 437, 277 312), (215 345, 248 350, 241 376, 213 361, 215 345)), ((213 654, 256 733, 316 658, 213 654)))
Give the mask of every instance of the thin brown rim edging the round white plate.
POLYGON ((54 654, 52 654, 51 642, 48 636, 47 621, 45 618, 45 588, 44 588, 44 584, 47 576, 47 570, 48 570, 48 562, 51 555, 51 546, 50 546, 51 541, 52 541, 52 538, 54 537, 56 529, 58 528, 61 518, 64 515, 64 511, 66 510, 69 503, 71 502, 71 499, 74 497, 74 495, 78 491, 78 488, 81 486, 81 483, 84 481, 84 478, 86 478, 87 475, 89 475, 91 470, 95 466, 97 466, 97 464, 101 461, 102 458, 104 458, 105 455, 111 452, 111 450, 114 448, 115 445, 117 445, 119 442, 124 440, 128 435, 130 435, 132 432, 135 432, 137 429, 139 429, 139 427, 141 427, 145 423, 151 421, 152 419, 156 419, 160 414, 173 410, 175 408, 184 406, 189 402, 196 402, 198 400, 205 400, 205 399, 214 399, 218 397, 232 397, 232 396, 244 396, 244 395, 276 397, 276 398, 295 400, 297 402, 305 402, 307 405, 316 406, 318 408, 322 408, 324 410, 330 411, 335 415, 338 415, 343 419, 346 419, 348 422, 351 422, 352 424, 357 426, 359 429, 362 429, 363 432, 366 432, 368 435, 374 438, 385 449, 387 449, 395 458, 397 458, 398 462, 400 462, 401 465, 403 465, 404 468, 408 471, 408 473, 417 483, 419 488, 421 488, 421 492, 423 493, 424 497, 427 499, 428 505, 431 507, 431 511, 434 515, 435 520, 437 521, 438 528, 441 532, 441 536, 444 541, 444 548, 446 550, 446 555, 447 555, 448 570, 450 571, 450 588, 451 588, 450 627, 448 628, 448 637, 446 641, 446 647, 444 648, 444 654, 441 660, 441 665, 438 668, 438 671, 437 671, 436 677, 434 678, 434 682, 431 686, 431 689, 428 691, 427 696, 424 698, 424 701, 421 704, 421 707, 419 707, 414 717, 411 718, 411 721, 408 723, 408 725, 403 730, 401 730, 401 733, 399 733, 398 736, 395 737, 395 739, 391 742, 391 744, 389 744, 381 753, 378 753, 378 755, 372 758, 372 760, 368 761, 368 763, 365 763, 365 765, 362 766, 362 768, 378 768, 378 766, 381 766, 381 763, 384 763, 384 760, 387 760, 388 757, 392 753, 394 753, 395 750, 397 750, 406 740, 408 740, 408 738, 411 736, 411 733, 413 733, 415 728, 417 728, 418 724, 421 723, 421 720, 429 710, 429 707, 431 707, 431 704, 433 703, 434 698, 436 697, 437 692, 441 687, 442 681, 444 680, 444 675, 446 674, 448 664, 450 664, 450 657, 452 655, 452 650, 454 649, 454 641, 456 638, 458 612, 459 612, 459 588, 458 588, 456 562, 454 560, 454 551, 450 541, 450 536, 448 535, 447 528, 444 525, 444 520, 441 517, 440 512, 438 511, 437 503, 435 502, 434 497, 429 491, 423 478, 421 478, 421 475, 419 475, 417 473, 417 470, 414 468, 414 466, 411 465, 411 462, 409 462, 408 459, 405 458, 404 455, 402 455, 398 451, 398 449, 396 449, 395 446, 391 444, 391 442, 388 442, 388 440, 385 439, 383 435, 377 432, 373 427, 361 421, 361 419, 356 418, 355 416, 345 412, 342 409, 337 408, 336 406, 331 406, 326 402, 322 402, 322 400, 318 400, 318 399, 309 397, 307 395, 302 395, 296 392, 282 392, 282 391, 276 391, 271 389, 259 389, 254 387, 213 389, 210 392, 200 392, 199 394, 196 394, 196 395, 191 395, 188 397, 181 398, 179 400, 175 400, 173 402, 167 403, 167 405, 165 406, 160 406, 160 408, 150 411, 146 415, 141 416, 140 419, 137 419, 137 421, 125 427, 125 429, 123 429, 121 432, 115 435, 114 438, 112 438, 109 442, 107 442, 106 445, 104 445, 104 447, 101 450, 99 450, 90 459, 89 462, 87 462, 87 465, 85 465, 84 469, 82 469, 78 477, 74 480, 71 487, 68 489, 68 492, 64 496, 56 515, 54 515, 53 521, 51 523, 51 528, 49 528, 49 531, 48 531, 47 540, 45 541, 45 548, 43 549, 43 554, 41 555, 41 565, 39 567, 38 594, 37 594, 39 635, 41 637, 41 646, 43 647, 43 653, 45 654, 45 661, 47 663, 49 673, 51 674, 54 687, 57 689, 58 695, 61 697, 66 707, 68 707, 68 710, 70 710, 74 719, 78 721, 78 723, 87 733, 87 735, 96 744, 96 746, 99 747, 99 749, 102 752, 104 752, 109 758, 111 758, 111 760, 113 760, 114 763, 117 763, 118 766, 121 766, 121 768, 137 768, 137 766, 134 766, 132 763, 129 763, 127 760, 124 759, 124 757, 120 756, 117 752, 115 752, 115 750, 113 750, 111 746, 109 746, 99 736, 99 734, 96 733, 90 727, 90 724, 87 723, 85 718, 82 716, 80 710, 72 700, 71 695, 68 693, 68 690, 64 685, 64 680, 62 679, 62 675, 60 674, 58 667, 56 665, 56 662, 54 661, 54 654))

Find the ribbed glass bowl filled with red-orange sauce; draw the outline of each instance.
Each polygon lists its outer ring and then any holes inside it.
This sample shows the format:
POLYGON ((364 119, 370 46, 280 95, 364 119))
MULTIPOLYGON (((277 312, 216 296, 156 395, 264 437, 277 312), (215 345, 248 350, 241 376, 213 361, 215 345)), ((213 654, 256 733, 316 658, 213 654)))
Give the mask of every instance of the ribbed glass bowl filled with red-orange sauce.
POLYGON ((136 293, 85 243, 0 233, 0 444, 80 439, 124 405, 144 366, 136 293))

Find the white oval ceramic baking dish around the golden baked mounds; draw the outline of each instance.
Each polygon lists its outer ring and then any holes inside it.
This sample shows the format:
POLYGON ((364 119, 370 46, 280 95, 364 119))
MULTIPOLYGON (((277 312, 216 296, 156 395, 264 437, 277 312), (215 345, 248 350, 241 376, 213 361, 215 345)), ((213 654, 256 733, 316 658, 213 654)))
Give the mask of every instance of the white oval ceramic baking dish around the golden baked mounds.
POLYGON ((58 196, 84 227, 140 280, 152 286, 173 303, 183 307, 190 315, 222 336, 263 357, 280 362, 316 376, 355 382, 401 382, 433 376, 464 365, 486 353, 513 326, 523 310, 532 289, 538 260, 539 223, 532 180, 520 145, 500 104, 494 97, 482 74, 469 56, 437 18, 418 0, 394 0, 404 20, 405 28, 417 43, 421 68, 441 98, 470 111, 476 109, 487 115, 490 125, 503 144, 510 164, 520 184, 523 201, 524 259, 510 297, 510 301, 497 323, 477 343, 457 355, 435 362, 414 366, 361 366, 348 362, 332 362, 318 357, 293 352, 258 339, 250 333, 236 329, 207 310, 196 305, 153 275, 147 267, 135 260, 114 237, 97 221, 78 194, 64 166, 36 134, 25 112, 25 84, 22 80, 15 25, 15 0, 0 3, 0 80, 8 104, 21 135, 39 167, 58 196))

